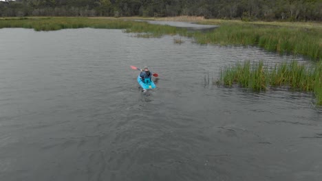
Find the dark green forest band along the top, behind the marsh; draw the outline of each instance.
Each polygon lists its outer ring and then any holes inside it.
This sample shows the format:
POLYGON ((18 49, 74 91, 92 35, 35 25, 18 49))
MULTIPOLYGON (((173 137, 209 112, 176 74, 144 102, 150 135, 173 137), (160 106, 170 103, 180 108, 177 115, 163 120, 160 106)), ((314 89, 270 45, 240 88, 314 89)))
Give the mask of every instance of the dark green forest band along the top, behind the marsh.
POLYGON ((322 0, 17 0, 0 16, 204 16, 217 19, 322 21, 322 0))

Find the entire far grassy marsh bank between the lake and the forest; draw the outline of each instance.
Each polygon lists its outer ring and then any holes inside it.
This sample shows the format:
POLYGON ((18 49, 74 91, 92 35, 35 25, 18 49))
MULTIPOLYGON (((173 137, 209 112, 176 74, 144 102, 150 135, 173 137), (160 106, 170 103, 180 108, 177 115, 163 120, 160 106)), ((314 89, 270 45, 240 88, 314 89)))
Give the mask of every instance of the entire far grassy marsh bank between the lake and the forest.
POLYGON ((126 32, 148 33, 142 37, 162 35, 189 36, 200 44, 258 46, 268 51, 302 55, 312 60, 322 60, 322 25, 319 23, 277 23, 208 20, 200 17, 180 16, 176 18, 83 18, 83 17, 28 17, 0 19, 0 28, 23 27, 36 31, 52 31, 66 28, 127 29, 126 32), (211 32, 186 32, 185 29, 167 25, 151 25, 133 21, 136 19, 160 21, 186 21, 202 24, 219 24, 211 32), (310 25, 310 26, 309 26, 310 25), (310 28, 308 28, 310 27, 310 28))

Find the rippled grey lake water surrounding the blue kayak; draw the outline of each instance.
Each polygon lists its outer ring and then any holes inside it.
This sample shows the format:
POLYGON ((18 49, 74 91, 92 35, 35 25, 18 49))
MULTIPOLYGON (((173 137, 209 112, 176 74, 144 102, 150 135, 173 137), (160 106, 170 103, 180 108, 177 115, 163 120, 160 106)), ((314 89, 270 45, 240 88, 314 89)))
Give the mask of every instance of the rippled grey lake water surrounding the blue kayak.
POLYGON ((174 38, 0 29, 0 180, 321 180, 310 93, 211 84, 234 62, 303 58, 174 38))

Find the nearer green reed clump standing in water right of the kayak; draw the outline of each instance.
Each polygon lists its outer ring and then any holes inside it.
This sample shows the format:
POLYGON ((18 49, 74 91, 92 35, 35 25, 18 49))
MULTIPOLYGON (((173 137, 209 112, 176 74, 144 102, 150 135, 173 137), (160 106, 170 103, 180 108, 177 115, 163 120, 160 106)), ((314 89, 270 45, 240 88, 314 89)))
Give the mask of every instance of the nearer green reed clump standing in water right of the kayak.
POLYGON ((263 61, 237 62, 220 71, 217 84, 261 91, 269 87, 285 86, 292 90, 313 92, 316 104, 322 105, 322 62, 299 64, 297 61, 264 64, 263 61))

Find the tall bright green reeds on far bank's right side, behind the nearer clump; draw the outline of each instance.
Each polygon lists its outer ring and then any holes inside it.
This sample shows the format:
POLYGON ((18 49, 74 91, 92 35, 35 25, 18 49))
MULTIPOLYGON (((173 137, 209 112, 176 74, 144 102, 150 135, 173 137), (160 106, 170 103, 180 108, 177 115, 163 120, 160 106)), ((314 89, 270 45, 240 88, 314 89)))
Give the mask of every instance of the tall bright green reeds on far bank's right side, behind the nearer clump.
POLYGON ((197 33, 194 38, 202 44, 252 45, 322 60, 321 29, 223 23, 213 32, 197 33))

